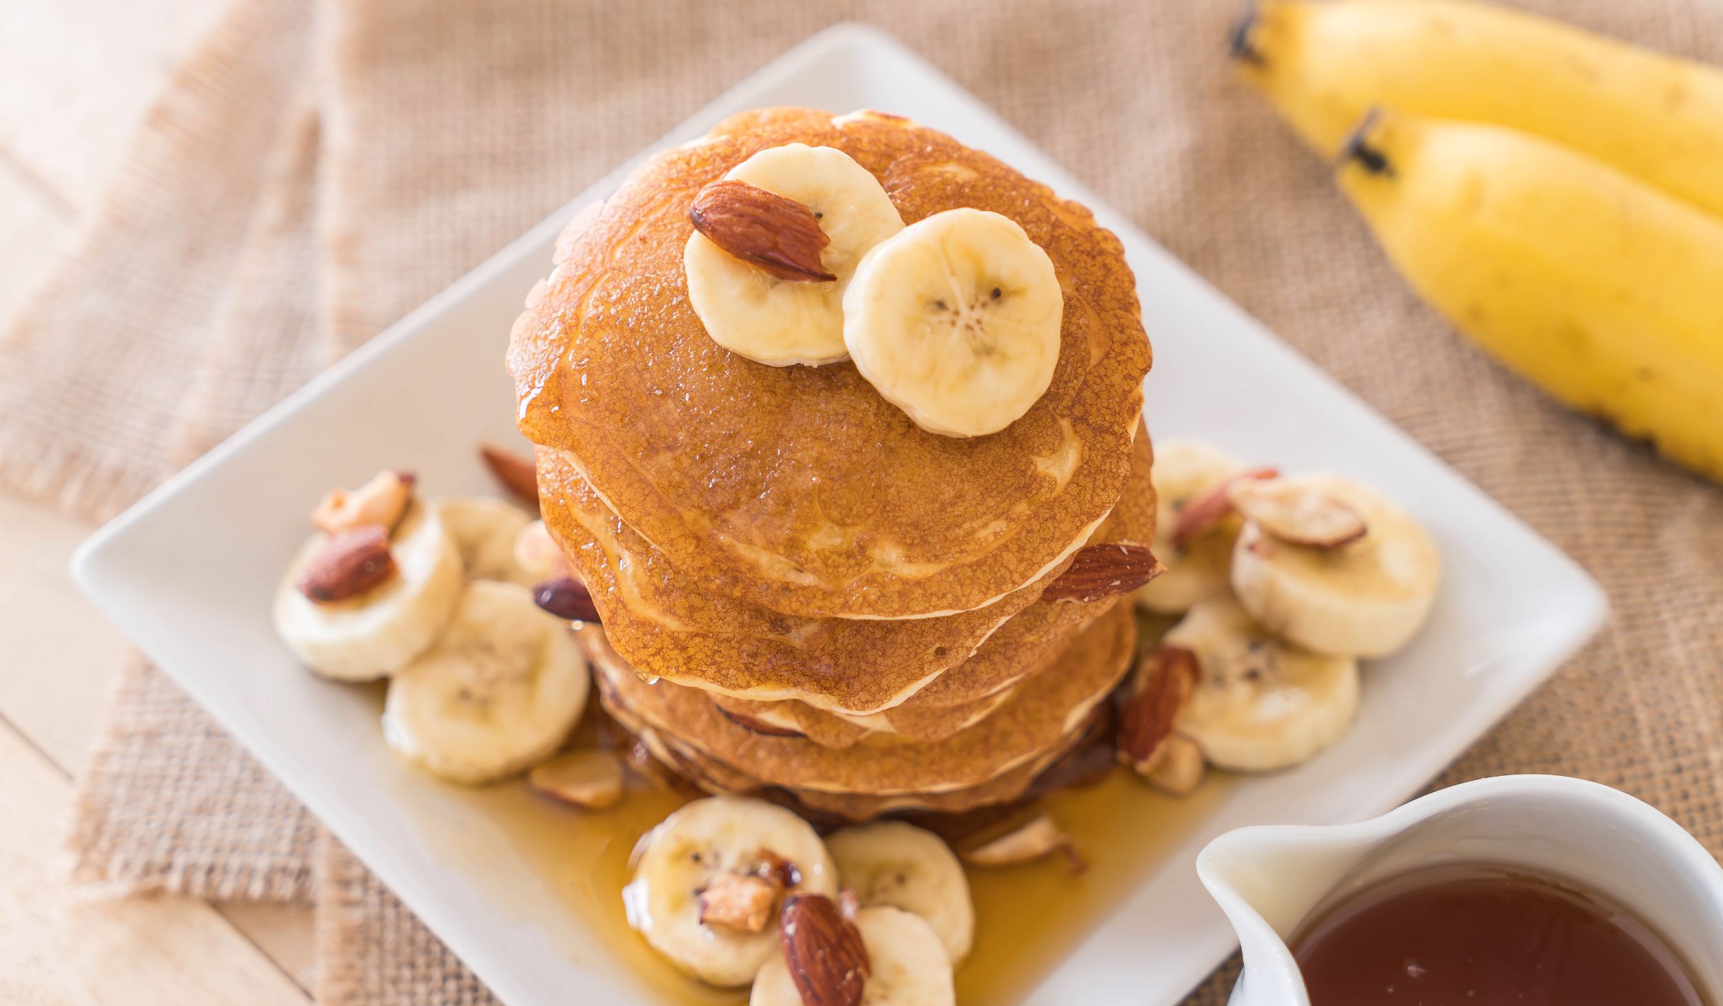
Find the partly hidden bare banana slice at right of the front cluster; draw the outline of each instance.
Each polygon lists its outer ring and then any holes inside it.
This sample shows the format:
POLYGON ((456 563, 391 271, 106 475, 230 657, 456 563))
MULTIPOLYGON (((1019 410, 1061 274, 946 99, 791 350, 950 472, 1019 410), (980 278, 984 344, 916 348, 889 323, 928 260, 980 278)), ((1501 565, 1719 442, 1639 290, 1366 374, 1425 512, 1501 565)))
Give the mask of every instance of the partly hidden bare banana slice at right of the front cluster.
POLYGON ((913 911, 939 934, 956 966, 975 941, 975 906, 968 877, 951 846, 934 832, 903 822, 877 822, 825 837, 837 877, 862 904, 913 911))

